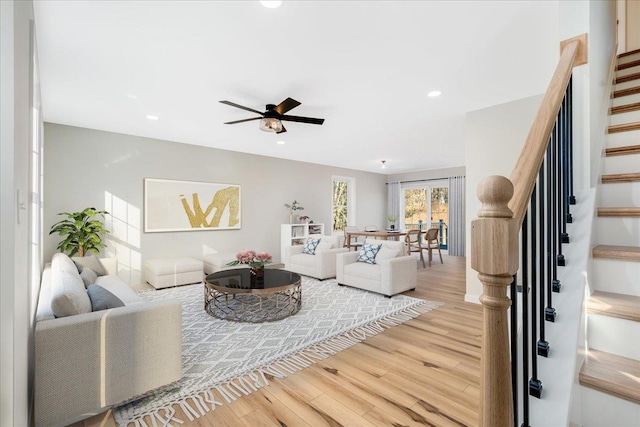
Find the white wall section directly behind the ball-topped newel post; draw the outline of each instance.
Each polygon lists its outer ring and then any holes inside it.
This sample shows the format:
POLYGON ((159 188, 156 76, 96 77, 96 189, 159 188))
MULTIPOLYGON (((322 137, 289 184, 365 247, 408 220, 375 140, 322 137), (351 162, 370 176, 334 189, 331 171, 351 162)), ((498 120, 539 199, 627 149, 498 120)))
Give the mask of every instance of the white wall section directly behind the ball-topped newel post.
MULTIPOLYGON (((478 215, 478 184, 490 175, 509 177, 520 154, 542 95, 467 113, 465 121, 466 239, 471 242, 471 221, 478 215)), ((466 245, 467 292, 465 301, 479 302, 482 284, 471 268, 471 245, 466 245)))

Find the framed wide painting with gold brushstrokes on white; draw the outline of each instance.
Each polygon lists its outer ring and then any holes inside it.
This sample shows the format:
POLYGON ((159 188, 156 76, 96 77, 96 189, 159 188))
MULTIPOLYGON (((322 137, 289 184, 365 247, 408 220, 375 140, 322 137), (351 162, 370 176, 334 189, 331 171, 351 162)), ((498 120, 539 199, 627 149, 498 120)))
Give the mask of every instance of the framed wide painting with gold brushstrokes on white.
POLYGON ((240 186, 144 179, 144 231, 237 230, 240 186))

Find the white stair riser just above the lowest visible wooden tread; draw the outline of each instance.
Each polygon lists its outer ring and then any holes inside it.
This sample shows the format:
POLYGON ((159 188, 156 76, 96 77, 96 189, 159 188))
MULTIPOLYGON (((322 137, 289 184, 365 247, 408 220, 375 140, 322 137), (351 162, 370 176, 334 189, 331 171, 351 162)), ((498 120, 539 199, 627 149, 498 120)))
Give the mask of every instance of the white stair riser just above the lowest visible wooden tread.
POLYGON ((589 313, 589 348, 640 360, 640 322, 589 313))

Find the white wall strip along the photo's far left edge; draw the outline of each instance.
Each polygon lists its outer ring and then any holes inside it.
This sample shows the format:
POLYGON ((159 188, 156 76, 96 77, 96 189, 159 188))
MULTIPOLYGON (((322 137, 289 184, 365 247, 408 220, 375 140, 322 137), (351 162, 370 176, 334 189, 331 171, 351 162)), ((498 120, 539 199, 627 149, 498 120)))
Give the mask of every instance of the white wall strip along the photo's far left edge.
POLYGON ((0 2, 0 424, 30 419, 33 316, 28 283, 31 1, 0 2), (17 192, 26 204, 18 211, 17 192), (19 213, 18 213, 19 212, 19 213))

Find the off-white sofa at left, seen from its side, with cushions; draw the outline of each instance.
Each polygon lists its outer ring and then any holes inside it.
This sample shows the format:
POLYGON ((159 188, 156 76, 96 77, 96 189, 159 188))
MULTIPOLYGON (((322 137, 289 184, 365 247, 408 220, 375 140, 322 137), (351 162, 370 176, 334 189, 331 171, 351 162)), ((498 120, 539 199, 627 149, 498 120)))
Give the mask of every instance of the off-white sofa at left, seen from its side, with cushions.
POLYGON ((117 276, 115 258, 101 264, 108 274, 95 284, 124 306, 91 311, 78 268, 64 254, 54 255, 43 272, 35 327, 36 426, 67 425, 182 377, 181 303, 145 301, 117 276))

